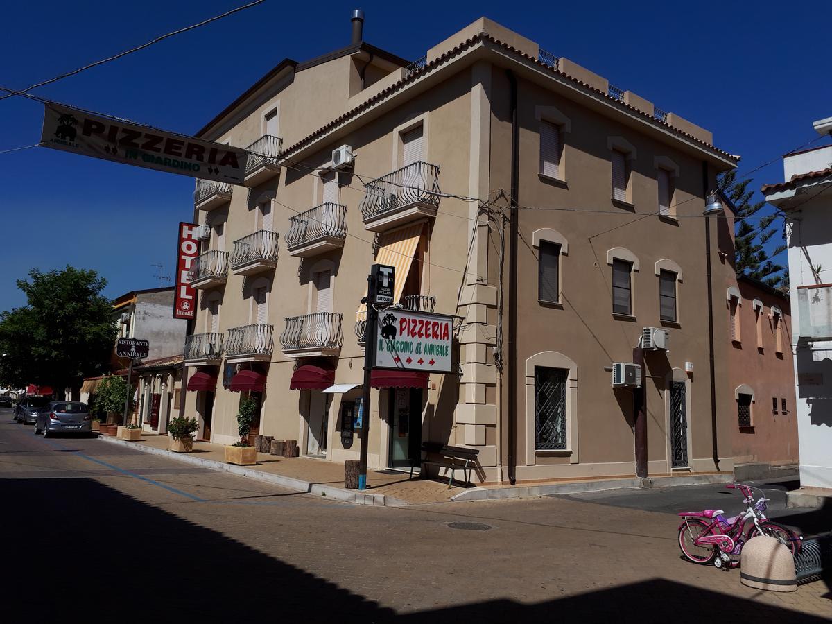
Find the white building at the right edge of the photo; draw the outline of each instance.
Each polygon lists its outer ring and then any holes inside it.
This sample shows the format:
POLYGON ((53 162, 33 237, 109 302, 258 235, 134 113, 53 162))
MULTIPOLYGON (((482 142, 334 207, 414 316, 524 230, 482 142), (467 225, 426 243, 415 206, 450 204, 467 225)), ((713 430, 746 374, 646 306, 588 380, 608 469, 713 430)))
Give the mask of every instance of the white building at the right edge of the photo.
POLYGON ((786 215, 800 484, 832 494, 832 145, 787 154, 783 171, 762 191, 786 215))

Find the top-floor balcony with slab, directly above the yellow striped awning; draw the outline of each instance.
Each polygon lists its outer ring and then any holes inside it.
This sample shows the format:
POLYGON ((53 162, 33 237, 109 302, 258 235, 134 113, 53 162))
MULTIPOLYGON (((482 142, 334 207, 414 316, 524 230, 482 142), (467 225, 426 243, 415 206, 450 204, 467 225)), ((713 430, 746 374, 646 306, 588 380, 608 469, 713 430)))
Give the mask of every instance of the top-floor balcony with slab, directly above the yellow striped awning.
POLYGON ((433 218, 439 207, 439 167, 414 162, 367 184, 361 201, 364 227, 384 232, 433 218))

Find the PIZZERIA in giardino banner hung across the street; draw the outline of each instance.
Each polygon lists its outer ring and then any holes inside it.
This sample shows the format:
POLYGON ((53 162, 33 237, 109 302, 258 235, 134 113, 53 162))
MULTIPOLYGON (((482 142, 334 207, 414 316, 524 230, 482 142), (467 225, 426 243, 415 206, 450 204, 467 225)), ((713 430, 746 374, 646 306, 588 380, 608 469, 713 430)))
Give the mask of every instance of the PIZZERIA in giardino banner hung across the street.
POLYGON ((46 105, 41 145, 206 180, 242 185, 245 179, 247 152, 238 147, 138 126, 59 104, 46 105))

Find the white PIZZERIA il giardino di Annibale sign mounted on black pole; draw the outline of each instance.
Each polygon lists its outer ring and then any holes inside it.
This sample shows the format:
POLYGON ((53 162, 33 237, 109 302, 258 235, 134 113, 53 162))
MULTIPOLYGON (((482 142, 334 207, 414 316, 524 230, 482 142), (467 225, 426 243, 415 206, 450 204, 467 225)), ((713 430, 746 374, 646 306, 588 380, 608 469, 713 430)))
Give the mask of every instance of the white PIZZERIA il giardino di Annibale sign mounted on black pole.
POLYGON ((377 369, 453 373, 453 316, 389 308, 376 323, 377 369))

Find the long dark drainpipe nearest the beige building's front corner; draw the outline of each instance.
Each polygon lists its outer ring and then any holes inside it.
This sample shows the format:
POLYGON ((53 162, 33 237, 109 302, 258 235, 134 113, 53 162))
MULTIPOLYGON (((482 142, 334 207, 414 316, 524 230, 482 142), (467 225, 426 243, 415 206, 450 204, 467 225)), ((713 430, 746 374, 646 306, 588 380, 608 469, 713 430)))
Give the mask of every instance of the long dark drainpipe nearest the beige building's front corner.
POLYGON ((518 126, 518 79, 506 71, 511 86, 512 115, 511 207, 508 227, 508 483, 517 483, 518 408, 518 179, 520 177, 520 127, 518 126))

